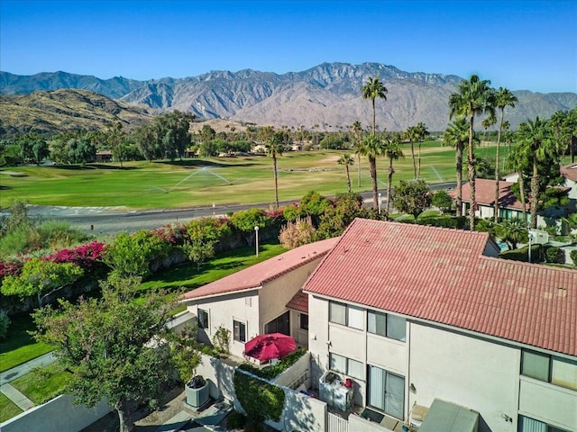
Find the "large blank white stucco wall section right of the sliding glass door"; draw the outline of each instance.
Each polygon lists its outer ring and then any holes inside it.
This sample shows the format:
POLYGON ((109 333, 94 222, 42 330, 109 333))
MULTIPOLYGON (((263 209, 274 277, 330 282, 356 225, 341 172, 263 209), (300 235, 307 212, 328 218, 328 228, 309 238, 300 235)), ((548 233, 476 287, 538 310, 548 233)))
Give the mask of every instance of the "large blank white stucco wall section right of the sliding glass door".
POLYGON ((407 378, 417 389, 409 392, 409 406, 430 407, 441 399, 479 411, 492 432, 517 430, 519 349, 415 322, 409 326, 407 378))

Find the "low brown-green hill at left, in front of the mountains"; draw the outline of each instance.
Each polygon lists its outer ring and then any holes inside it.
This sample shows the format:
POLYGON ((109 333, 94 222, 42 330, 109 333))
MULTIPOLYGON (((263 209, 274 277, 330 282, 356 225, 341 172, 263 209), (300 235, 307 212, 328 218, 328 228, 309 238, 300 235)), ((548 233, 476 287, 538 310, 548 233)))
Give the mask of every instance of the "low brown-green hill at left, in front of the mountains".
POLYGON ((152 111, 87 90, 0 95, 0 134, 99 130, 113 121, 130 127, 151 121, 152 111))

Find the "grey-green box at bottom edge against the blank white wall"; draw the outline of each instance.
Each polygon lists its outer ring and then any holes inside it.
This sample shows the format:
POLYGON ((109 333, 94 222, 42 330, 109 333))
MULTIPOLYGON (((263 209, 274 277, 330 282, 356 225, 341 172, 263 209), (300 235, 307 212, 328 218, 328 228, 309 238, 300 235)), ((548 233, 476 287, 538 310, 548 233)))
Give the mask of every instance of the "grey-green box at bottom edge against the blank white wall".
POLYGON ((477 432, 479 413, 435 399, 418 432, 477 432))

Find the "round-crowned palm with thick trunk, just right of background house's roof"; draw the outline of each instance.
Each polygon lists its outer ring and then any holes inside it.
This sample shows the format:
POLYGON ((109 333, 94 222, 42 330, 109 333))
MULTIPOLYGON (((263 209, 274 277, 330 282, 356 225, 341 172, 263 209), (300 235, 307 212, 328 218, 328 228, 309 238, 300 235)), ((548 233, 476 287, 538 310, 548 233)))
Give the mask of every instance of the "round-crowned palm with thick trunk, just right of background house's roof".
POLYGON ((550 152, 552 139, 548 130, 547 121, 539 119, 528 120, 519 125, 517 139, 519 150, 531 161, 533 173, 531 175, 531 228, 537 228, 537 205, 539 203, 539 185, 541 178, 538 171, 539 159, 543 160, 550 152))

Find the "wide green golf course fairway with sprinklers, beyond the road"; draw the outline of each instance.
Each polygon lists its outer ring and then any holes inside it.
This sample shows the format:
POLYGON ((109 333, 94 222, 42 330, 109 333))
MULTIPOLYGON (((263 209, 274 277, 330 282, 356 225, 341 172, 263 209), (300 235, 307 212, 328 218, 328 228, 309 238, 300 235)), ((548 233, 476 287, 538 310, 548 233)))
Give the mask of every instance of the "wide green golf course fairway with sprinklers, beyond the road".
MULTIPOLYGON (((413 177, 410 146, 395 162, 393 181, 413 177)), ((495 148, 483 145, 481 157, 494 157, 495 148)), ((337 159, 352 150, 287 152, 278 159, 279 199, 298 200, 310 190, 324 195, 346 192, 346 175, 337 159)), ((417 146, 416 146, 417 153, 417 146)), ((503 151, 502 153, 505 153, 503 151)), ((421 148, 421 175, 427 183, 453 181, 454 150, 439 141, 421 148)), ((389 161, 377 160, 380 185, 386 184, 389 161)), ((369 164, 361 159, 350 167, 353 191, 371 189, 369 164)), ((215 157, 183 161, 129 162, 88 166, 16 166, 0 170, 0 207, 13 198, 32 204, 124 206, 133 209, 183 208, 196 205, 273 202, 272 161, 269 157, 215 157)))

